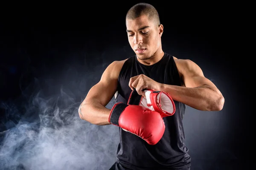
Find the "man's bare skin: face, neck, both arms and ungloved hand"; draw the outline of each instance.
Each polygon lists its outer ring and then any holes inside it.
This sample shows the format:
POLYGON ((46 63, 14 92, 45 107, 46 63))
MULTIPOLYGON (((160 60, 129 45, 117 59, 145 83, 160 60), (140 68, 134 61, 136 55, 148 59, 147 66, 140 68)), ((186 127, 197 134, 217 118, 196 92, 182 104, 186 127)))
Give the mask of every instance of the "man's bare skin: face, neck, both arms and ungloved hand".
MULTIPOLYGON (((135 20, 126 20, 128 41, 144 65, 152 65, 163 57, 161 36, 163 25, 149 20, 143 15, 135 20)), ((174 57, 177 69, 182 79, 182 85, 166 85, 154 81, 141 74, 131 77, 129 87, 140 95, 143 89, 165 91, 178 102, 201 111, 221 111, 224 97, 218 88, 206 77, 201 68, 189 59, 174 57)), ((79 107, 81 119, 95 125, 110 125, 108 117, 111 109, 105 106, 111 101, 117 91, 118 76, 125 60, 112 62, 102 74, 100 81, 88 92, 79 107), (108 90, 102 90, 108 89, 108 90)))

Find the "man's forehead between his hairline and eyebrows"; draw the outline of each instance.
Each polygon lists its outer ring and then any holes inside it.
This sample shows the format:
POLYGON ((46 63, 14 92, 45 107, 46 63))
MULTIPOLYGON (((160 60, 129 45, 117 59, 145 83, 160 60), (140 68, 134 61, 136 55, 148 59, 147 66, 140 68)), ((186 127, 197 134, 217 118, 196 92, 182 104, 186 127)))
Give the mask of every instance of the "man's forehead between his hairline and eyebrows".
POLYGON ((134 20, 126 19, 126 28, 128 30, 133 30, 137 28, 141 28, 143 26, 151 26, 152 22, 148 20, 148 17, 143 15, 134 20))

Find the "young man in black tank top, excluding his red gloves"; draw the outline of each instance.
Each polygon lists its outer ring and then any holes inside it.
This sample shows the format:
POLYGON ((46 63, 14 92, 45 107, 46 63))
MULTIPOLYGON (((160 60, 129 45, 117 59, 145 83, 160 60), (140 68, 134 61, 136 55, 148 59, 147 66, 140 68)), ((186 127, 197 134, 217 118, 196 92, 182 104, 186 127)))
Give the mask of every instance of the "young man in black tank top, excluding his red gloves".
MULTIPOLYGON (((160 141, 148 144, 139 134, 120 127, 117 160, 111 170, 189 170, 191 162, 183 142, 182 123, 186 105, 201 111, 220 111, 224 97, 204 77, 198 65, 189 59, 177 59, 162 50, 163 25, 153 6, 147 3, 133 6, 126 15, 126 28, 129 43, 136 55, 114 61, 106 68, 100 81, 81 103, 79 116, 95 125, 111 125, 113 123, 109 117, 112 110, 105 106, 115 94, 116 103, 126 104, 133 89, 143 96, 143 89, 169 93, 176 111, 172 116, 163 117, 165 131, 160 141)), ((130 119, 129 114, 141 115, 140 108, 133 111, 138 114, 125 113, 128 116, 123 118, 122 124, 126 125, 122 127, 129 126, 131 121, 126 122, 130 119)))

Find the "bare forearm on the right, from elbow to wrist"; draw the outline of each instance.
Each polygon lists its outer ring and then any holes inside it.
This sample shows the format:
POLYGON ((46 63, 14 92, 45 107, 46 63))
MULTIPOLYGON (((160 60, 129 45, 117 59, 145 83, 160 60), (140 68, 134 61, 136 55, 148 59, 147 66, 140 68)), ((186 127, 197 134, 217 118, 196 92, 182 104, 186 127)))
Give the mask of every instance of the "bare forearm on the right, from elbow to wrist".
POLYGON ((160 91, 168 92, 172 99, 201 111, 220 111, 223 107, 223 96, 208 85, 187 88, 162 84, 160 91))

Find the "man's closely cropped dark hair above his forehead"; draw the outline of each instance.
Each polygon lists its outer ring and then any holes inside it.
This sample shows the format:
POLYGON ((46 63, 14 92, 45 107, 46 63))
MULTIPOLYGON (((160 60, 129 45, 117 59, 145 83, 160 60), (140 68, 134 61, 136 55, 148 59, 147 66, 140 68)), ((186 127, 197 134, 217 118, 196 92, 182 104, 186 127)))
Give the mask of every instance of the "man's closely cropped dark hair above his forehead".
POLYGON ((134 20, 142 15, 146 15, 148 20, 155 22, 157 26, 160 25, 160 17, 157 9, 148 3, 137 3, 132 6, 126 14, 126 19, 134 20))

